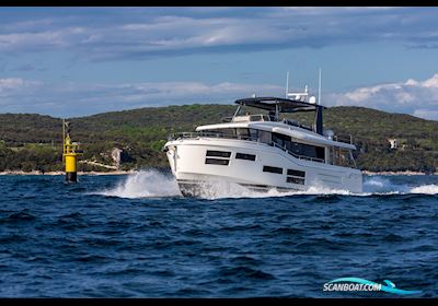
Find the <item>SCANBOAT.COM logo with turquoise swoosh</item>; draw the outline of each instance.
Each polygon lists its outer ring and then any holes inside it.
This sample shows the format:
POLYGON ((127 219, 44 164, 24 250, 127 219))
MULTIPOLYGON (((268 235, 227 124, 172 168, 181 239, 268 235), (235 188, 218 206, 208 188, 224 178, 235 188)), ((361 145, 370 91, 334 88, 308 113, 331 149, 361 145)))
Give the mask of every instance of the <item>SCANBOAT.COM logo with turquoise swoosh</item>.
POLYGON ((396 289, 395 284, 388 280, 383 282, 384 285, 358 278, 342 278, 325 283, 323 291, 383 291, 402 295, 422 293, 417 290, 396 289))

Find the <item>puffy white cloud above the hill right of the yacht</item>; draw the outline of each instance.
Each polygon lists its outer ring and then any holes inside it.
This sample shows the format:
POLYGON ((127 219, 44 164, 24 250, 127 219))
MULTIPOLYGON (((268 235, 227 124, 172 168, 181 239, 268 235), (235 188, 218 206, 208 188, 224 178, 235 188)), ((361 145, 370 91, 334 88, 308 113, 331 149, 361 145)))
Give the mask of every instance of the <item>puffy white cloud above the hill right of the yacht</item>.
POLYGON ((410 79, 328 94, 325 102, 330 106, 365 106, 438 120, 438 73, 424 81, 410 79))

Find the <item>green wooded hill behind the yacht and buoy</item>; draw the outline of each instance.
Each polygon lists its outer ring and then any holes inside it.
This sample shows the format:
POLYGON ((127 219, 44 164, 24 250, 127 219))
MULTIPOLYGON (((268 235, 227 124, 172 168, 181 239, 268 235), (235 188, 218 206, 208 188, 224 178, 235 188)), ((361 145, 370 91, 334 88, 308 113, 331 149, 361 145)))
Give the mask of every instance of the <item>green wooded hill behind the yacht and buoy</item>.
MULTIPOLYGON (((111 165, 111 150, 119 148, 127 153, 123 169, 166 167, 161 148, 169 133, 219 122, 234 110, 234 105, 195 104, 104 113, 69 121, 73 140, 82 143, 82 161, 111 165)), ((312 115, 301 113, 288 117, 311 125, 312 115)), ((353 136, 361 169, 434 172, 438 168, 438 121, 342 106, 325 110, 324 128, 353 136), (389 138, 397 139, 397 150, 390 150, 389 138)), ((62 169, 60 118, 0 114, 0 170, 62 169)), ((80 164, 79 169, 108 170, 89 164, 80 164)))

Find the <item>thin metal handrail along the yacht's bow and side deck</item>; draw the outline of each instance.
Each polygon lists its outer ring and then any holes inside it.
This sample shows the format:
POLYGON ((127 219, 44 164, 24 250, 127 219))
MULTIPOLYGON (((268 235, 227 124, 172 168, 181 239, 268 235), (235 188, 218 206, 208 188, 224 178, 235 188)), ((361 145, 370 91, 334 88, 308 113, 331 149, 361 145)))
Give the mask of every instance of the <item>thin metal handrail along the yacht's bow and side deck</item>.
MULTIPOLYGON (((258 138, 254 138, 254 137, 231 136, 231 134, 203 132, 203 131, 172 133, 172 134, 169 136, 168 140, 172 141, 172 140, 178 140, 178 139, 196 139, 196 138, 200 138, 200 137, 223 138, 223 139, 239 139, 239 140, 254 141, 254 142, 257 142, 257 143, 266 143, 266 142, 261 142, 258 140, 258 138)), ((275 148, 281 149, 283 151, 289 153, 290 155, 292 155, 293 157, 299 158, 299 160, 306 160, 306 161, 318 162, 318 163, 325 163, 325 160, 323 160, 323 158, 316 158, 316 157, 310 157, 310 156, 306 156, 306 155, 296 154, 296 153, 289 151, 288 149, 286 149, 286 146, 281 146, 281 145, 277 144, 274 141, 270 141, 270 143, 266 143, 266 144, 270 145, 270 146, 275 146, 275 148)))

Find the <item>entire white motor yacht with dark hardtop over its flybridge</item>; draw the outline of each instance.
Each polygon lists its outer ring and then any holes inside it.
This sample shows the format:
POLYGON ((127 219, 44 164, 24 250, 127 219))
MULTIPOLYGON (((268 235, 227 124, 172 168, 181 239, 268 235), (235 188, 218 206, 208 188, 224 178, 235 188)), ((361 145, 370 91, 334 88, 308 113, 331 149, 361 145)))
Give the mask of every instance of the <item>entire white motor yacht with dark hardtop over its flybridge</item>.
MULTIPOLYGON (((307 91, 306 91, 307 94, 307 91)), ((267 191, 306 190, 312 186, 362 191, 361 172, 351 151, 355 145, 323 132, 323 106, 307 95, 295 98, 239 99, 228 122, 200 126, 195 132, 170 137, 164 145, 169 163, 184 196, 198 196, 219 181, 267 191), (243 106, 269 114, 240 115, 243 106), (279 119, 280 113, 315 111, 312 128, 279 119)))

